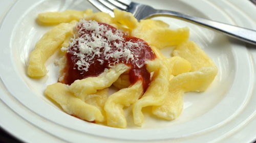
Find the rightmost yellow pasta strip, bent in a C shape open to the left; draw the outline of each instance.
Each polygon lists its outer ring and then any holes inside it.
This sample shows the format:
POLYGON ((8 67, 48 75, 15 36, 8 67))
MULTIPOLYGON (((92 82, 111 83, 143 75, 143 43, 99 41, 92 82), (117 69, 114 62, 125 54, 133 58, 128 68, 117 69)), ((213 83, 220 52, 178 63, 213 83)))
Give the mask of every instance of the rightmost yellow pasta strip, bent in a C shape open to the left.
POLYGON ((172 88, 181 88, 184 92, 205 91, 217 75, 217 67, 209 56, 192 41, 177 46, 173 55, 181 56, 191 64, 191 72, 177 75, 171 81, 172 88))

